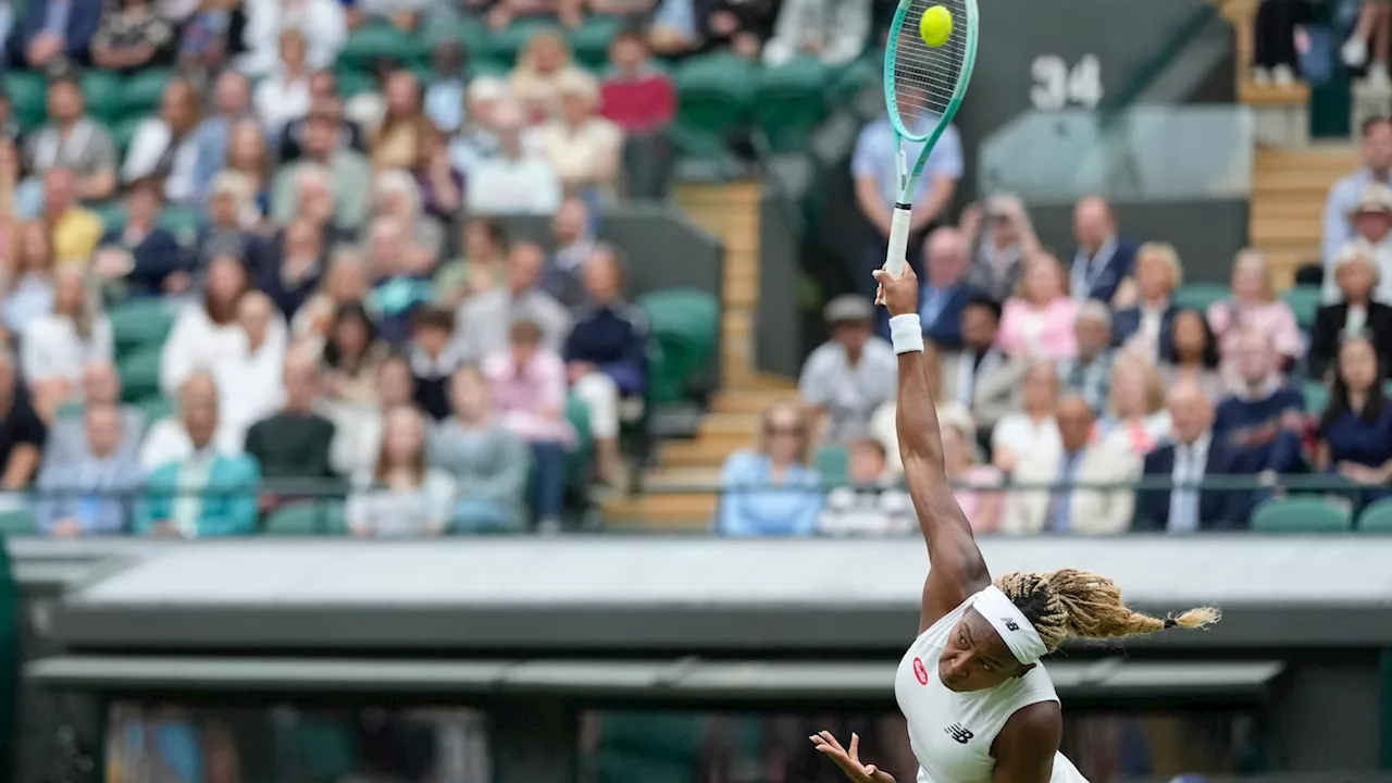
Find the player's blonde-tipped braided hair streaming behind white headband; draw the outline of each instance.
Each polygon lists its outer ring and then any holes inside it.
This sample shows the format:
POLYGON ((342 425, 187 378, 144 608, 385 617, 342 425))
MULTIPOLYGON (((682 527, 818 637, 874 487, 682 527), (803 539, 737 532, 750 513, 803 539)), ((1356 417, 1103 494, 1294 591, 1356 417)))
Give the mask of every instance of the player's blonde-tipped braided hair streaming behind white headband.
POLYGON ((1211 606, 1165 619, 1133 612, 1122 600, 1116 582, 1076 568, 1043 574, 1013 571, 998 577, 995 587, 1029 617, 1051 652, 1069 637, 1114 639, 1154 634, 1176 626, 1203 628, 1222 617, 1211 606))

